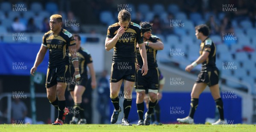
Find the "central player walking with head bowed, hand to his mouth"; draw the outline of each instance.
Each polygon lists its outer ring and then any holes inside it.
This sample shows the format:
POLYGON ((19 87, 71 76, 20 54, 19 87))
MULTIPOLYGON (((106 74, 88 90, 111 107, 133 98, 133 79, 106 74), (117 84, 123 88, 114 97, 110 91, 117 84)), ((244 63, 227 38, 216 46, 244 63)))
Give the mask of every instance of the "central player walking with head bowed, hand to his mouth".
POLYGON ((119 112, 121 112, 118 93, 122 82, 124 82, 124 117, 121 124, 124 126, 132 126, 131 123, 128 122, 128 115, 131 109, 131 94, 135 82, 137 43, 143 60, 143 63, 141 63, 142 75, 146 75, 148 72, 147 55, 145 45, 143 44, 141 27, 131 22, 131 14, 126 10, 119 11, 118 21, 118 23, 114 23, 108 27, 105 40, 105 49, 109 51, 113 48, 110 98, 115 110, 111 117, 111 123, 116 123, 119 112))

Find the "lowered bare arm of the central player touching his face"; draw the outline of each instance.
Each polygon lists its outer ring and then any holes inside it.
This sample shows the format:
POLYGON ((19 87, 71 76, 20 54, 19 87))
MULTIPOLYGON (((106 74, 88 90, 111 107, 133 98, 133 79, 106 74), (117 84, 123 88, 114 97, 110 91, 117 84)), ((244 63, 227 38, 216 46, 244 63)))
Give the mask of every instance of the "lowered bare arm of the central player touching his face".
POLYGON ((141 73, 143 73, 143 76, 148 73, 148 60, 147 60, 147 52, 144 44, 139 44, 140 49, 140 55, 143 60, 143 66, 141 68, 141 73))

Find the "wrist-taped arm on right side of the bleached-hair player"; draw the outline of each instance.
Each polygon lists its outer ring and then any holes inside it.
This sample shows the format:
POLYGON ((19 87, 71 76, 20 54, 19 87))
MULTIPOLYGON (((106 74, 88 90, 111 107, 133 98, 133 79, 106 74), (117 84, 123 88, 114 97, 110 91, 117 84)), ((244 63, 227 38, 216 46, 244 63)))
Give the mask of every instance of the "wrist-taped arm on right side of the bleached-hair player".
POLYGON ((79 81, 80 80, 80 73, 79 73, 79 65, 78 65, 78 57, 76 55, 76 45, 73 45, 73 46, 69 46, 68 47, 69 51, 70 51, 70 54, 71 54, 71 57, 72 57, 72 63, 74 65, 74 68, 75 68, 75 73, 73 75, 73 77, 76 77, 76 81, 79 81))

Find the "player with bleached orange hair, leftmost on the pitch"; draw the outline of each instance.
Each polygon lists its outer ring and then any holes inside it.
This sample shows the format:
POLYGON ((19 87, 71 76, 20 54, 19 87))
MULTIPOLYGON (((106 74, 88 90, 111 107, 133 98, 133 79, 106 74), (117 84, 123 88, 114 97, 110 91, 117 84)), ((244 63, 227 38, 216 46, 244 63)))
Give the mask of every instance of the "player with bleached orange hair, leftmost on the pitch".
POLYGON ((78 58, 74 53, 76 43, 70 32, 61 28, 62 17, 59 14, 53 14, 50 17, 50 31, 44 34, 43 43, 36 56, 35 64, 32 67, 30 74, 34 73, 43 61, 44 56, 49 49, 49 65, 47 69, 46 91, 47 98, 56 109, 58 109, 58 118, 52 125, 63 125, 65 115, 68 114, 68 109, 65 109, 65 79, 70 77, 69 57, 68 52, 73 55, 72 61, 75 67, 73 77, 76 81, 80 79, 78 58), (56 98, 57 95, 57 98, 56 98))

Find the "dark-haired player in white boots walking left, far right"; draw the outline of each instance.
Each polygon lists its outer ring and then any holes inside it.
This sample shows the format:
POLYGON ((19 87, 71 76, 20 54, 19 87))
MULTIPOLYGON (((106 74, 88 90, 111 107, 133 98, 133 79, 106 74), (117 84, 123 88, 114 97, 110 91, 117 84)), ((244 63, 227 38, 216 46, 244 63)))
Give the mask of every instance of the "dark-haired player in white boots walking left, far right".
POLYGON ((201 40, 200 56, 190 65, 186 66, 186 71, 190 72, 195 66, 202 63, 202 68, 198 74, 198 79, 195 81, 191 92, 191 103, 189 116, 186 118, 177 118, 181 123, 194 123, 195 110, 198 107, 199 95, 204 91, 206 86, 209 86, 212 97, 215 100, 216 107, 218 108, 220 119, 212 125, 224 123, 223 102, 221 99, 218 79, 219 70, 215 65, 216 61, 216 46, 209 36, 209 27, 207 25, 198 25, 195 27, 195 36, 201 40))

